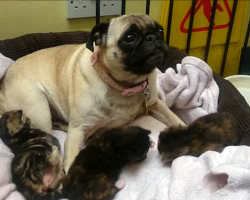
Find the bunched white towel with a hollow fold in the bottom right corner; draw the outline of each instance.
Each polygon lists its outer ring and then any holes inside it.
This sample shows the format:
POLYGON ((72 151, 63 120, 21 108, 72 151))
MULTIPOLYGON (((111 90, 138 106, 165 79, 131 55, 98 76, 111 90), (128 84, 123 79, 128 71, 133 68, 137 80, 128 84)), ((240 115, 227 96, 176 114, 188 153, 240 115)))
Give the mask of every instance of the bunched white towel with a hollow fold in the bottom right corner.
POLYGON ((174 160, 169 200, 249 200, 250 147, 229 146, 174 160))

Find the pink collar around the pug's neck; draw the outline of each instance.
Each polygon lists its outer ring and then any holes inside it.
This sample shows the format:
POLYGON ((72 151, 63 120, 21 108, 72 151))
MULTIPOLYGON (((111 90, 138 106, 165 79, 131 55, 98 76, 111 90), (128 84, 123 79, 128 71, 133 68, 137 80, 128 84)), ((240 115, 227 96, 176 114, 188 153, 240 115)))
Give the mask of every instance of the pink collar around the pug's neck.
POLYGON ((92 54, 91 57, 91 64, 93 67, 95 67, 95 70, 97 71, 98 75, 100 76, 100 78, 109 86, 122 91, 122 95, 123 96, 132 96, 140 91, 142 91, 143 89, 145 89, 148 85, 147 81, 144 81, 142 84, 137 85, 135 87, 132 88, 126 88, 121 86, 119 83, 117 83, 112 77, 110 77, 107 73, 107 71, 105 70, 104 66, 98 62, 99 59, 99 52, 94 51, 94 53, 92 54))

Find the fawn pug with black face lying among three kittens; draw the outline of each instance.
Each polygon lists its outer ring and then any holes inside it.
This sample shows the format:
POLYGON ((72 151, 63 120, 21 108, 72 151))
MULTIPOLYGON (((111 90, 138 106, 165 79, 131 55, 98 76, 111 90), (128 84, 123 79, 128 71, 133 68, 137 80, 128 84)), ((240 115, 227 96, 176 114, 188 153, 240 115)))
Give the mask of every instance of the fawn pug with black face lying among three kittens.
POLYGON ((96 25, 86 44, 43 49, 17 60, 1 82, 1 113, 22 109, 33 126, 67 131, 67 172, 84 141, 101 127, 141 114, 185 125, 157 97, 156 66, 168 51, 163 28, 148 15, 123 15, 96 25))

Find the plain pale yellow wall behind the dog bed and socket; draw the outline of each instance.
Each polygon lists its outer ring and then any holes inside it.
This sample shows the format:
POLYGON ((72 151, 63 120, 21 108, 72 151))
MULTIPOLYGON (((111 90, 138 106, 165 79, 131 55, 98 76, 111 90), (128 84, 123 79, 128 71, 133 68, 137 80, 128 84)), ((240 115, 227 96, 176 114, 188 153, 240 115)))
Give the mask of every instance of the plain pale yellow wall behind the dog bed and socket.
MULTIPOLYGON (((156 21, 161 5, 162 1, 151 1, 150 15, 156 21)), ((0 1, 0 40, 28 33, 91 30, 95 25, 95 18, 68 20, 66 10, 66 0, 0 1)), ((127 1, 126 13, 145 13, 145 2, 127 1)))

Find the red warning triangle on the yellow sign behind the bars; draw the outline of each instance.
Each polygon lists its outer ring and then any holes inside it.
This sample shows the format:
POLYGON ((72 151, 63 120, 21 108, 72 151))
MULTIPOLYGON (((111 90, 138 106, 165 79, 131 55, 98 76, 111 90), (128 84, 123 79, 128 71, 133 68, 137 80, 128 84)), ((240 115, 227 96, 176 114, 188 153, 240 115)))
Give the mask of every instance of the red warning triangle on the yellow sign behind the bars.
MULTIPOLYGON (((231 16, 231 9, 228 4, 228 0, 223 0, 223 2, 217 3, 216 5, 216 14, 219 12, 221 15, 224 15, 228 20, 227 22, 220 23, 219 20, 216 22, 214 21, 213 29, 223 29, 229 26, 230 16, 231 16), (222 4, 222 5, 221 5, 222 4), (226 16, 225 16, 226 15, 226 16), (216 24, 217 23, 217 24, 216 24)), ((211 14, 212 14, 212 1, 209 0, 197 0, 195 2, 195 12, 194 15, 197 14, 198 11, 202 9, 204 19, 207 20, 208 23, 211 21, 211 14)), ((188 10, 187 14, 181 21, 180 30, 182 33, 188 33, 188 28, 185 28, 185 24, 189 22, 189 18, 191 15, 191 8, 188 10)), ((194 16, 195 18, 195 16, 194 16)), ((207 31, 209 29, 209 25, 194 25, 192 32, 199 32, 199 31, 207 31)))

